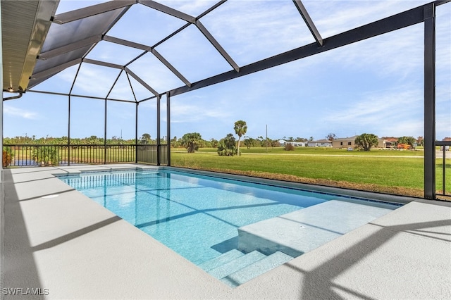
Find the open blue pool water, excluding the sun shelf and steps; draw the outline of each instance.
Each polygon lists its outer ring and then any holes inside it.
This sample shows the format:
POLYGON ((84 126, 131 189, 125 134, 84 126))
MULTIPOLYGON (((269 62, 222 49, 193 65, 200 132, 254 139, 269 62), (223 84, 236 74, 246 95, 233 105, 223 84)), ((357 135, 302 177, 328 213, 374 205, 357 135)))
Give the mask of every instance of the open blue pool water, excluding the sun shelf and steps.
POLYGON ((239 227, 333 199, 349 201, 173 170, 82 173, 60 179, 196 265, 237 249, 239 227))

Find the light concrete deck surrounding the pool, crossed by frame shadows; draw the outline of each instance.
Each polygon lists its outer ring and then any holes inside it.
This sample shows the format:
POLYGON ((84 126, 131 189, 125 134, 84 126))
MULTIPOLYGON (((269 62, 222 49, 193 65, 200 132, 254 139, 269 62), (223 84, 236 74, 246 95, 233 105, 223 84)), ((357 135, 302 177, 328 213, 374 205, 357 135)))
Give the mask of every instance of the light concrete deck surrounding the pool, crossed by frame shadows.
POLYGON ((137 166, 4 170, 3 297, 451 299, 450 202, 400 197, 412 201, 231 288, 53 175, 137 166))

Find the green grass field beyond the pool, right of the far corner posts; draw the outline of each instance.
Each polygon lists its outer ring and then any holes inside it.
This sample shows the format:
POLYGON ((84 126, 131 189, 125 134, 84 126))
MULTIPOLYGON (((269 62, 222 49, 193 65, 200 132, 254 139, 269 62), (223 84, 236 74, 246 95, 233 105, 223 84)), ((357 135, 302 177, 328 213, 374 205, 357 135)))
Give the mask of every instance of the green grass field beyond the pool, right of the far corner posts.
MULTIPOLYGON (((188 154, 172 152, 171 165, 216 170, 318 185, 424 195, 423 151, 280 148, 241 149, 241 156, 218 156, 216 149, 199 149, 188 154)), ((451 155, 450 155, 451 158, 451 155)), ((442 159, 437 160, 437 190, 442 189, 442 159)), ((451 191, 451 163, 447 163, 447 192, 451 191)))

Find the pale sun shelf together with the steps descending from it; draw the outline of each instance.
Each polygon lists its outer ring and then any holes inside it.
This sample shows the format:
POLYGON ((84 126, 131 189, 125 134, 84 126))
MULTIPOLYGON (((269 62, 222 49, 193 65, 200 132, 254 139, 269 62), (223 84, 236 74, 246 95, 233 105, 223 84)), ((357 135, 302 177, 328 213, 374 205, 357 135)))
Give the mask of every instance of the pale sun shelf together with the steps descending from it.
POLYGON ((199 267, 226 285, 237 287, 392 210, 330 200, 279 215, 238 228, 238 249, 199 267))

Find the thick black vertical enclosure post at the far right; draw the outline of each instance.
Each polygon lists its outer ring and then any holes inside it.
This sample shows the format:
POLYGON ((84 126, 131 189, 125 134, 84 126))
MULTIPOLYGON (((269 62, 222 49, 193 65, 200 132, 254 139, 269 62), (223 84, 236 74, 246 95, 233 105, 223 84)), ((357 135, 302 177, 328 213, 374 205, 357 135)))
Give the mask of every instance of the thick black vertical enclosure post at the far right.
POLYGON ((424 6, 424 198, 435 199, 435 5, 424 6))

